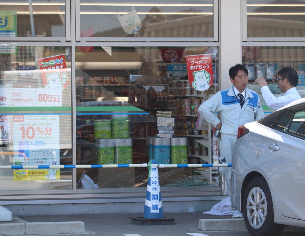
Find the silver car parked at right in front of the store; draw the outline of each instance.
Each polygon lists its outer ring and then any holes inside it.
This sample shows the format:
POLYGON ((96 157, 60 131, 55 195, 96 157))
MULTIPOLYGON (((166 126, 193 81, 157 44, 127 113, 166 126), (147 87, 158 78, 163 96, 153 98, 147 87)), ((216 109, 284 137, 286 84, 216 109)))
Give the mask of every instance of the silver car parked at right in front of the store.
POLYGON ((230 194, 253 236, 305 227, 305 98, 239 127, 230 194))

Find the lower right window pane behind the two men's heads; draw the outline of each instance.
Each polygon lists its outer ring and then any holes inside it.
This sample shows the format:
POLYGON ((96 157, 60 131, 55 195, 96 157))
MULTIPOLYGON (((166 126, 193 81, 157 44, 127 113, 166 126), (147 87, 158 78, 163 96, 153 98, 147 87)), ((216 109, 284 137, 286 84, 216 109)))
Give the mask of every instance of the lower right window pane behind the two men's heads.
MULTIPOLYGON (((276 79, 278 71, 284 67, 292 67, 298 73, 299 81, 296 89, 300 96, 305 97, 305 47, 242 47, 242 64, 249 72, 248 88, 261 94, 260 86, 254 82, 257 77, 267 80, 268 87, 274 96, 282 96, 276 79)), ((264 112, 273 112, 264 98, 260 96, 264 112)))

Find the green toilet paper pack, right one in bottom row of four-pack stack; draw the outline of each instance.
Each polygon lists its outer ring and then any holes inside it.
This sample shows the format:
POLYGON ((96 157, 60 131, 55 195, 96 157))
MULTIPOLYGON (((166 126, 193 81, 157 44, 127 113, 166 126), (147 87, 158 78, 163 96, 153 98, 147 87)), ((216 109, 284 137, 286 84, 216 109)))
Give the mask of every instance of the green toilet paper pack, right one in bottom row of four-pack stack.
POLYGON ((116 164, 132 164, 131 138, 117 138, 115 150, 116 164))

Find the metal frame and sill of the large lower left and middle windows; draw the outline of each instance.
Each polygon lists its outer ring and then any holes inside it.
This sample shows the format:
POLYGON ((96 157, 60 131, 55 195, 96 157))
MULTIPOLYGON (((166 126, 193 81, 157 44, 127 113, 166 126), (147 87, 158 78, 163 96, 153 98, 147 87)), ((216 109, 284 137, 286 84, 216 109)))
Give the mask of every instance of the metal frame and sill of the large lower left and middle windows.
MULTIPOLYGON (((1 44, 11 44, 12 42, 3 41, 1 44)), ((112 47, 204 47, 215 46, 220 48, 219 42, 22 42, 20 41, 18 46, 69 46, 71 50, 71 106, 72 106, 72 165, 76 165, 76 84, 75 84, 75 48, 77 46, 112 46, 112 47)), ((221 60, 219 61, 221 66, 221 60)), ((219 78, 221 78, 221 70, 219 70, 219 78)), ((219 86, 221 81, 218 81, 219 86)), ((221 185, 221 184, 220 184, 221 185)), ((161 187, 161 194, 163 199, 167 198, 169 201, 177 201, 181 199, 185 201, 188 199, 200 200, 203 197, 218 196, 221 195, 221 186, 204 186, 204 187, 161 187), (179 194, 177 194, 179 193, 179 194)), ((53 201, 56 203, 62 203, 61 201, 68 198, 73 198, 71 203, 81 203, 83 199, 95 198, 92 202, 116 202, 115 198, 120 198, 120 202, 137 202, 145 198, 146 187, 140 188, 103 188, 103 189, 77 189, 77 176, 76 169, 72 169, 72 189, 63 190, 5 190, 0 191, 0 205, 1 204, 16 204, 18 200, 27 201, 26 204, 44 204, 50 203, 50 194, 53 201), (35 196, 33 195, 33 191, 35 196), (38 200, 40 199, 40 200, 38 200), (123 200, 122 200, 123 199, 123 200), (133 200, 131 200, 133 199, 133 200), (15 202, 15 203, 14 203, 15 202), (39 203, 38 203, 39 202, 39 203)))

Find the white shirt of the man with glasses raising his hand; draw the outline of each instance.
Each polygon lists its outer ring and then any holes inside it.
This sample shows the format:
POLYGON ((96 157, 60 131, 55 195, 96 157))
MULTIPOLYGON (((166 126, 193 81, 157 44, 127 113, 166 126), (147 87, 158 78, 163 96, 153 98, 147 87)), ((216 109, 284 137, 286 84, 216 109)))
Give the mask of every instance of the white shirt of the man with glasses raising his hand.
POLYGON ((300 94, 296 90, 296 87, 290 88, 283 96, 280 97, 275 97, 269 90, 268 86, 263 86, 260 91, 262 92, 267 106, 276 110, 301 98, 300 94))

